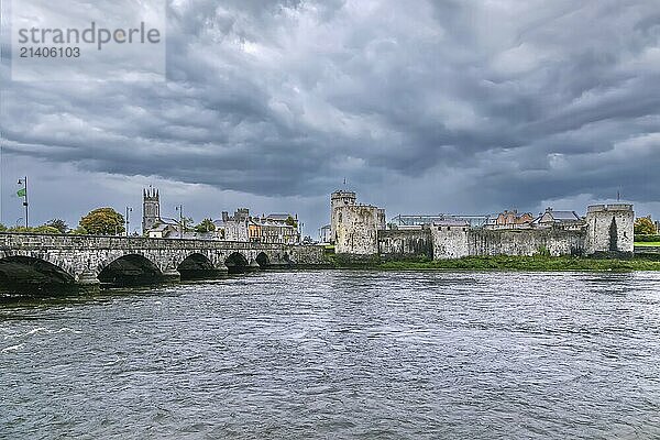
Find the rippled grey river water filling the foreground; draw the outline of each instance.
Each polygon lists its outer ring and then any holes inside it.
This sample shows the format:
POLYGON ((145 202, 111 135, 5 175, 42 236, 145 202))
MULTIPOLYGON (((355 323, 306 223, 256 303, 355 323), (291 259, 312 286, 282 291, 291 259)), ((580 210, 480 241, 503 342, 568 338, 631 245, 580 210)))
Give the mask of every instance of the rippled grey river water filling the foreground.
POLYGON ((660 438, 660 274, 261 273, 0 304, 0 438, 660 438))

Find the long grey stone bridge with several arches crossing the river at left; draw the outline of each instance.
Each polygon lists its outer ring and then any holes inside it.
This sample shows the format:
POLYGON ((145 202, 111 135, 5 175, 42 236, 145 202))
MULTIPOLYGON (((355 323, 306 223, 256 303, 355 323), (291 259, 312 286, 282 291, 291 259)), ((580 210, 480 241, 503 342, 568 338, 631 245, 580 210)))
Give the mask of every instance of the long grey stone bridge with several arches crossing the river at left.
POLYGON ((320 246, 0 233, 0 284, 94 285, 323 263, 320 246))

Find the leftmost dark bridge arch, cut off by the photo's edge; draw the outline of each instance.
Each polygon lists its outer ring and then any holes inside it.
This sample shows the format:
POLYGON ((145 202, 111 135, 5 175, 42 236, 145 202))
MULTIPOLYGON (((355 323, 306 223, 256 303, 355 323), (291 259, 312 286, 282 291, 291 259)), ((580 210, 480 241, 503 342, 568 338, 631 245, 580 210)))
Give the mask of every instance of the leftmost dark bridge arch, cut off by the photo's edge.
POLYGON ((75 283, 72 273, 43 256, 9 255, 0 258, 0 284, 11 286, 75 283))

